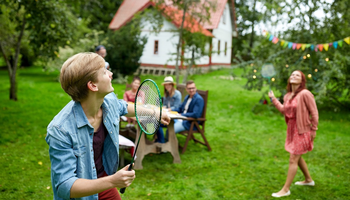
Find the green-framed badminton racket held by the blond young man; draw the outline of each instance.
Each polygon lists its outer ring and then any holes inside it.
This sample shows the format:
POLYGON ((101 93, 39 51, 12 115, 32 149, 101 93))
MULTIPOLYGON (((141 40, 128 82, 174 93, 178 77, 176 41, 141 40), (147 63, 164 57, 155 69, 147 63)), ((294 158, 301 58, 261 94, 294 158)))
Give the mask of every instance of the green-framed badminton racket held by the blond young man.
MULTIPOLYGON (((128 171, 132 170, 132 164, 134 162, 142 132, 147 135, 153 135, 157 132, 160 125, 161 113, 162 100, 159 88, 153 80, 147 79, 141 83, 135 97, 135 116, 141 131, 128 171)), ((120 189, 121 194, 124 194, 124 192, 125 187, 120 189)))

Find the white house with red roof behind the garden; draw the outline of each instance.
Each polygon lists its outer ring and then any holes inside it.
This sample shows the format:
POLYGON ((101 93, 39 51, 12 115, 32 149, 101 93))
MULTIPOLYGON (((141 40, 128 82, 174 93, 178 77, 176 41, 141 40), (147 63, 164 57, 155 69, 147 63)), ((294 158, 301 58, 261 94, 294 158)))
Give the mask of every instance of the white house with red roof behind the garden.
MULTIPOLYGON (((211 12, 209 22, 200 24, 197 21, 191 23, 185 21, 184 25, 192 33, 201 32, 212 37, 211 44, 208 43, 207 47, 211 48, 213 53, 197 61, 198 67, 231 65, 232 37, 237 37, 235 2, 232 0, 212 1, 216 2, 217 6, 215 12, 211 12)), ((155 7, 154 2, 151 0, 124 0, 109 28, 119 29, 129 22, 135 13, 148 7, 155 7)), ((174 72, 175 56, 173 54, 176 53, 176 44, 179 42, 176 30, 181 26, 183 13, 173 6, 166 6, 162 9, 162 15, 163 27, 158 34, 153 33, 150 24, 144 22, 141 35, 146 35, 148 40, 140 58, 142 73, 164 75, 174 72), (167 20, 169 18, 171 21, 167 20)), ((182 54, 185 57, 191 57, 190 52, 182 52, 182 54)), ((179 63, 180 69, 186 68, 182 64, 182 62, 179 63)))

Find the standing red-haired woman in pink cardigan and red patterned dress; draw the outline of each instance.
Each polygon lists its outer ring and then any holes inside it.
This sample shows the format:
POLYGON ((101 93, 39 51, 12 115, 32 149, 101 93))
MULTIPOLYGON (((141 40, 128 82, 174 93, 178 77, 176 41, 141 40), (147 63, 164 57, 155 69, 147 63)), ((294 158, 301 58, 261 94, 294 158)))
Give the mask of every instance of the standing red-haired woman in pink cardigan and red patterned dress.
POLYGON ((272 193, 273 197, 290 195, 289 187, 299 166, 305 180, 295 182, 295 185, 314 186, 307 164, 302 154, 314 148, 314 139, 318 125, 318 110, 314 95, 306 89, 305 75, 296 70, 290 75, 287 84, 287 94, 281 104, 273 94, 268 93, 272 103, 285 116, 287 123, 287 138, 285 149, 290 153, 287 180, 279 192, 272 193), (311 118, 310 118, 311 116, 311 118))

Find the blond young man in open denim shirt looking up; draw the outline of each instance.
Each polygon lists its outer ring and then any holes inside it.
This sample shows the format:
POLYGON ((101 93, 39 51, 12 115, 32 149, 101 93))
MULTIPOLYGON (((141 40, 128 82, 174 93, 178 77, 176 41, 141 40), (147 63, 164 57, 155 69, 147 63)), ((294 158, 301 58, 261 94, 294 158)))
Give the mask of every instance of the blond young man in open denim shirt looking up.
MULTIPOLYGON (((54 199, 121 199, 116 187, 131 185, 135 171, 119 164, 119 117, 135 116, 133 106, 113 93, 112 73, 96 53, 64 62, 60 82, 73 99, 50 122, 49 145, 54 199)), ((162 123, 170 118, 162 113, 162 123)))

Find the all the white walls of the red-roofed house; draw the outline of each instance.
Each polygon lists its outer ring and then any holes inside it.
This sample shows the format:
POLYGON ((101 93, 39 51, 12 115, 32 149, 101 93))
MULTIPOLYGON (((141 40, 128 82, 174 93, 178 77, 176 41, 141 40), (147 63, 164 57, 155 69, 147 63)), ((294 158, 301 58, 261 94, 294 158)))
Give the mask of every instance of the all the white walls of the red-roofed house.
MULTIPOLYGON (((179 42, 179 36, 177 35, 177 28, 175 25, 165 18, 163 20, 163 27, 160 33, 156 34, 152 32, 152 26, 149 22, 143 22, 144 28, 142 28, 141 36, 146 35, 148 37, 144 51, 140 58, 142 64, 153 65, 175 65, 176 44, 179 42), (155 41, 158 41, 158 54, 155 54, 155 41), (172 59, 172 60, 170 60, 172 59)), ((231 46, 232 46, 232 26, 229 4, 226 4, 224 15, 221 17, 219 25, 213 30, 212 39, 212 63, 231 63, 231 46), (220 41, 220 53, 218 54, 218 41, 220 41), (226 55, 225 55, 225 43, 226 43, 226 55)), ((209 50, 209 43, 206 44, 209 50)), ((184 56, 191 58, 191 52, 185 52, 184 56)), ((142 65, 141 64, 141 65, 142 65)), ((196 61, 197 65, 209 64, 209 56, 203 56, 196 61)), ((180 63, 179 63, 180 65, 180 63)))

